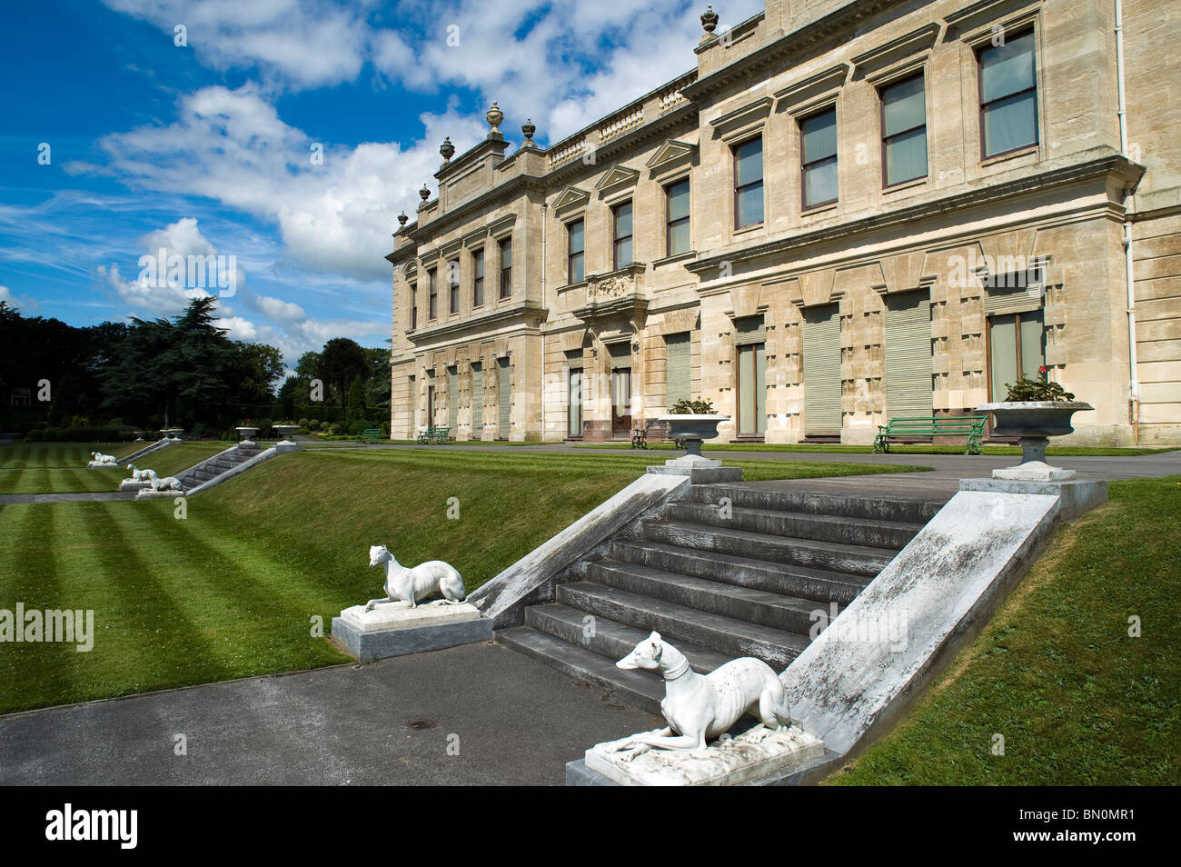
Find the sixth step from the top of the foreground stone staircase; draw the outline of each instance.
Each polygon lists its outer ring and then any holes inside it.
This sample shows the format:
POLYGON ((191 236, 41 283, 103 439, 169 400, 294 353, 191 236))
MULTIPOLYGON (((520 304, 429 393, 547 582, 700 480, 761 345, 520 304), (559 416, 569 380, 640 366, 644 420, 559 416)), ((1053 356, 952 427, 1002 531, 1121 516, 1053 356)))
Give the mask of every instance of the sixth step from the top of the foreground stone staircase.
POLYGON ((678 640, 689 641, 731 658, 758 657, 777 671, 787 667, 808 646, 807 635, 744 622, 592 581, 559 585, 555 595, 559 602, 572 608, 639 630, 657 630, 673 644, 678 640))

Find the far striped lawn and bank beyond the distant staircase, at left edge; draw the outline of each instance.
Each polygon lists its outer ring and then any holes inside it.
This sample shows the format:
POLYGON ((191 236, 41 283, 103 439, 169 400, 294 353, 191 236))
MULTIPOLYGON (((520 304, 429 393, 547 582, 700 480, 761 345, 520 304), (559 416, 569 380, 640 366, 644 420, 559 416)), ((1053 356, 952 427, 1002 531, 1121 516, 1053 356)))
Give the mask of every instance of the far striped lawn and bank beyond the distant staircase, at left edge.
MULTIPOLYGON (((229 443, 169 445, 148 455, 137 467, 154 469, 161 476, 171 476, 228 446, 229 443)), ((132 454, 135 449, 125 448, 123 444, 119 444, 118 450, 112 450, 110 446, 86 446, 76 443, 47 445, 25 443, 0 446, 0 494, 78 494, 117 490, 119 482, 131 474, 122 467, 86 469, 91 451, 122 457, 132 454)))

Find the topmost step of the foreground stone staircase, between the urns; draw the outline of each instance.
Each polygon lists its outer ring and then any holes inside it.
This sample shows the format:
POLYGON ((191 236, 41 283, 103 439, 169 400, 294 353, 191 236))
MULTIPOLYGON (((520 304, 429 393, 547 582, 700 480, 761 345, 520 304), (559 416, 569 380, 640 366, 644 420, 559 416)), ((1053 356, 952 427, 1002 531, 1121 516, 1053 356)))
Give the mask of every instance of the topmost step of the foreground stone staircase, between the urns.
POLYGON ((880 521, 903 521, 925 524, 944 507, 938 500, 905 497, 850 497, 840 494, 791 491, 778 485, 694 484, 689 498, 697 503, 720 503, 727 497, 733 506, 778 511, 803 511, 811 515, 842 515, 880 521))

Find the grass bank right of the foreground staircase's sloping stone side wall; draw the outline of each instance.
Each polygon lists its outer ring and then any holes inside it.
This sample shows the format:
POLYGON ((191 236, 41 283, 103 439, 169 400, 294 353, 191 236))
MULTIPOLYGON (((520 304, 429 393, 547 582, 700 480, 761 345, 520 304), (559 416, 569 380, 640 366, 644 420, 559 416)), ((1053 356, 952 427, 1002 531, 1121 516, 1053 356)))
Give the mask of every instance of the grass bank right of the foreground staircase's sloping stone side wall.
POLYGON ((1181 477, 1114 482, 1110 495, 830 784, 1181 783, 1181 477))

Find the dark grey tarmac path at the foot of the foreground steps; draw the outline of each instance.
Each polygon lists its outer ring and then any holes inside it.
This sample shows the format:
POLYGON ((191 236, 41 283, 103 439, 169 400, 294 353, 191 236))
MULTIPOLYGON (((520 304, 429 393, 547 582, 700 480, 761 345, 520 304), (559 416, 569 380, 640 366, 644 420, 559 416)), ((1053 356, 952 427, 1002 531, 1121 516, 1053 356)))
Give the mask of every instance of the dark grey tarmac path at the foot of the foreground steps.
POLYGON ((487 643, 4 716, 0 784, 562 785, 661 724, 487 643))

